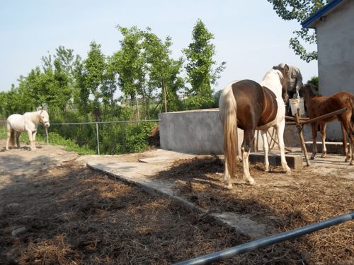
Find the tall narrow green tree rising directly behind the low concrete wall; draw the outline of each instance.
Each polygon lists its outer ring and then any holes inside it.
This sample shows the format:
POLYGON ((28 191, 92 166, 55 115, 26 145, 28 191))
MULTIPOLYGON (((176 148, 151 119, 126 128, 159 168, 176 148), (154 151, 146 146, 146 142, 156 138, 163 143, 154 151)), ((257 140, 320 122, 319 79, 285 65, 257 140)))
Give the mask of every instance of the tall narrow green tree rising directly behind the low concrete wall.
POLYGON ((185 70, 188 74, 188 82, 191 88, 187 90, 191 107, 200 108, 210 104, 212 99, 212 85, 217 83, 220 73, 225 68, 225 62, 217 66, 213 59, 215 45, 212 44, 214 35, 210 33, 202 20, 198 19, 193 28, 192 42, 188 49, 183 49, 187 58, 185 70))

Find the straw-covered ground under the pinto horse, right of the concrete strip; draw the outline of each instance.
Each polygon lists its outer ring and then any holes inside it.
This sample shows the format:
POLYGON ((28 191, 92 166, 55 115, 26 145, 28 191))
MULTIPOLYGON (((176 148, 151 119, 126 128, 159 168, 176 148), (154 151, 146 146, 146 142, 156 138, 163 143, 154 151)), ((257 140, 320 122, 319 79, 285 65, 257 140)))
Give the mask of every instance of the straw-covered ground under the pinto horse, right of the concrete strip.
MULTIPOLYGON (((206 210, 245 214, 275 232, 354 211, 354 181, 341 177, 345 172, 323 177, 297 170, 287 175, 281 167, 272 167, 265 173, 263 164, 251 165, 250 171, 258 184, 235 179, 233 191, 222 187, 223 162, 218 157, 179 160, 158 177, 176 179, 181 196, 206 210)), ((242 175, 241 165, 236 175, 242 175)), ((354 264, 353 221, 283 245, 301 254, 305 263, 354 264)))

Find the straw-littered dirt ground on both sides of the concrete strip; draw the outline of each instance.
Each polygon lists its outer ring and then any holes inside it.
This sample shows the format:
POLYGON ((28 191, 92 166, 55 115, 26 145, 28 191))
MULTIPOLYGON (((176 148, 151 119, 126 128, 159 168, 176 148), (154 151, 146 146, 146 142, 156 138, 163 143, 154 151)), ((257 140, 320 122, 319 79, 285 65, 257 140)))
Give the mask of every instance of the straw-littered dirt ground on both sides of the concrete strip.
MULTIPOLYGON (((37 155, 0 152, 0 264, 171 264, 249 241, 76 158, 47 145, 37 155)), ((236 179, 229 191, 220 182, 222 160, 204 156, 178 160, 156 177, 175 179, 181 196, 202 208, 247 214, 282 232, 353 211, 353 171, 312 167, 285 175, 273 167, 265 174, 253 165, 258 185, 236 179)), ((353 256, 349 221, 219 264, 354 264, 353 256)))

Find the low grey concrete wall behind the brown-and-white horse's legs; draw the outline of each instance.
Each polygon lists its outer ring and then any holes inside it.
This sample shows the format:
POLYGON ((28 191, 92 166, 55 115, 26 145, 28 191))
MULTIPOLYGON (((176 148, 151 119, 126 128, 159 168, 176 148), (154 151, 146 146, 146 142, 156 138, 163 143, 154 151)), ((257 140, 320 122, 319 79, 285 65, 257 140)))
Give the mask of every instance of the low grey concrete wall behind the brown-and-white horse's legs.
MULTIPOLYGON (((160 113, 159 119, 162 149, 203 155, 223 153, 224 141, 218 109, 160 113)), ((238 129, 238 135, 241 146, 244 131, 238 129)), ((309 141, 309 134, 306 135, 305 139, 309 141)), ((299 146, 295 126, 285 127, 285 146, 299 146)), ((259 150, 262 147, 263 141, 259 134, 259 150)))

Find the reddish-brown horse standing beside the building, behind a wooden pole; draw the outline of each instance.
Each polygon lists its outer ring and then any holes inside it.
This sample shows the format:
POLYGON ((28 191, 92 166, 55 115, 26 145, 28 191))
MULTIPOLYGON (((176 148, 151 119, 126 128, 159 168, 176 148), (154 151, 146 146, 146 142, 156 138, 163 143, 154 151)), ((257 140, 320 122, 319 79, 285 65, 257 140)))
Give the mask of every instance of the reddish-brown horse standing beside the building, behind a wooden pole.
POLYGON ((338 92, 330 97, 324 97, 321 95, 316 95, 314 93, 314 86, 307 84, 304 85, 301 90, 304 93, 304 100, 307 107, 307 115, 310 119, 319 117, 321 115, 327 114, 329 112, 334 112, 336 110, 341 110, 347 108, 346 112, 338 114, 327 119, 321 119, 318 122, 312 122, 312 156, 314 159, 317 153, 316 138, 317 138, 317 125, 320 125, 321 139, 322 139, 322 158, 326 157, 326 123, 339 121, 342 125, 342 130, 346 131, 349 137, 349 151, 347 150, 346 135, 343 134, 343 146, 346 150, 346 161, 350 161, 350 165, 353 165, 354 158, 354 95, 348 92, 338 92))

